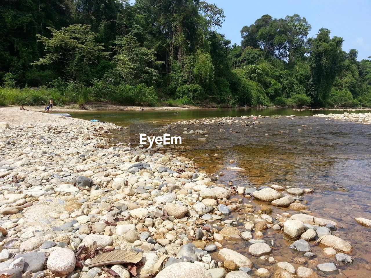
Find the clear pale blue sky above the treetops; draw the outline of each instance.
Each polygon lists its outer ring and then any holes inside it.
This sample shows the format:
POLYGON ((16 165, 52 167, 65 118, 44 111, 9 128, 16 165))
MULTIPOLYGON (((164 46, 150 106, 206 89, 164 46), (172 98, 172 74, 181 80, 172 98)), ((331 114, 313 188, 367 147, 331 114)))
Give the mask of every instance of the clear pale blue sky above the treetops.
POLYGON ((315 37, 321 27, 344 39, 343 50, 358 50, 358 60, 371 56, 371 0, 209 0, 224 10, 226 19, 218 30, 233 43, 241 43, 240 30, 263 14, 284 18, 295 13, 305 17, 315 37))

